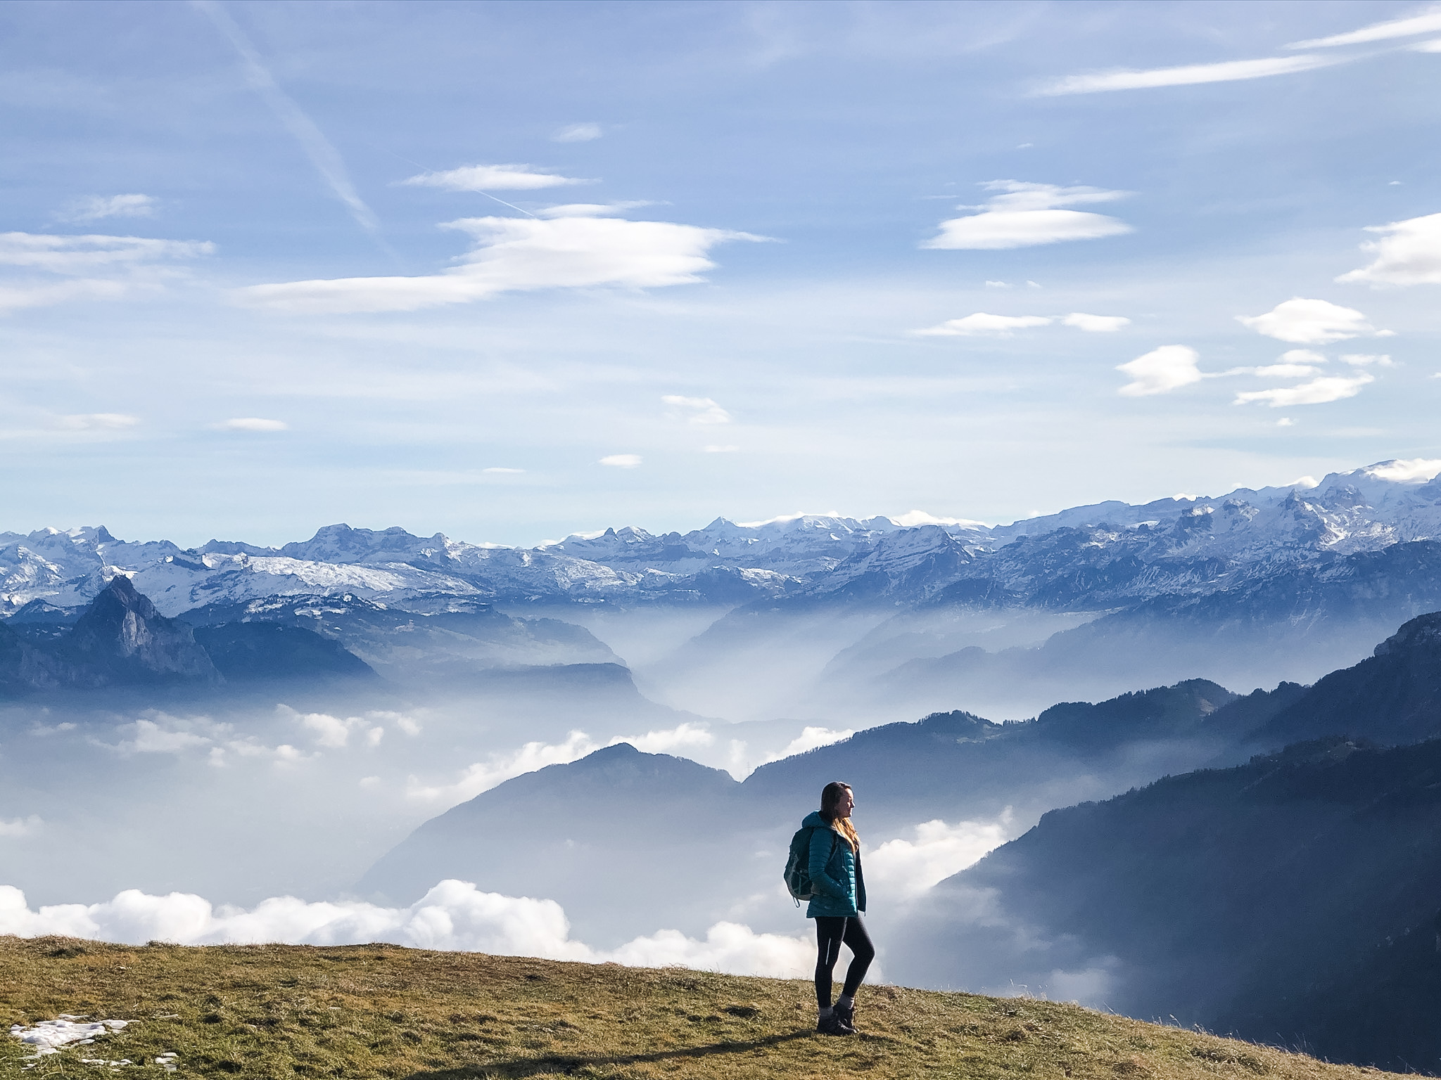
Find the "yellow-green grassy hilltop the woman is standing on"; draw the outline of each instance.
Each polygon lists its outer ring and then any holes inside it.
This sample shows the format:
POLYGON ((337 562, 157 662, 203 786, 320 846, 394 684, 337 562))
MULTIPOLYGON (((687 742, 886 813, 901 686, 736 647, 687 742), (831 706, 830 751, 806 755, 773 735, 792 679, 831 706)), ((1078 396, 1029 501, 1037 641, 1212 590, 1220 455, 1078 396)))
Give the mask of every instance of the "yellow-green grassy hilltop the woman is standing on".
POLYGON ((0 937, 0 1024, 135 1021, 0 1076, 1278 1077, 1388 1076, 1043 1001, 866 986, 860 1035, 813 1034, 808 982, 346 948, 0 937))

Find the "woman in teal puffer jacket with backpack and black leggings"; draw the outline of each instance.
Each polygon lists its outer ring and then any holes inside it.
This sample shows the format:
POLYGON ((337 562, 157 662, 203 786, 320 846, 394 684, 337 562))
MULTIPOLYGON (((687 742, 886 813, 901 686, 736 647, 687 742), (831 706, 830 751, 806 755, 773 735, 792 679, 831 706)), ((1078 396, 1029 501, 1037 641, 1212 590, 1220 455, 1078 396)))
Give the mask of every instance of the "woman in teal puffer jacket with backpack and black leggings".
POLYGON ((820 811, 806 815, 801 822, 801 828, 811 831, 811 901, 806 917, 816 920, 816 1005, 820 1009, 816 1030, 826 1035, 855 1034, 856 989, 876 956, 860 922, 866 910, 866 880, 860 873, 860 838, 850 824, 855 806, 850 785, 836 780, 821 791, 820 811), (853 958, 840 998, 831 1005, 830 981, 842 943, 850 948, 853 958))

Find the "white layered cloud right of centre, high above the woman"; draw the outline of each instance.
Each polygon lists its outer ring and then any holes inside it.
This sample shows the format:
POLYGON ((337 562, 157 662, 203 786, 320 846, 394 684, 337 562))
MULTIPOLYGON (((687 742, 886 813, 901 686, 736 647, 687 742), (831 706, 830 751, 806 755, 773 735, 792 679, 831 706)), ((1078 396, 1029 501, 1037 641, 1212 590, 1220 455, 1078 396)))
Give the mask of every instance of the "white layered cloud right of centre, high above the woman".
POLYGON ((1000 194, 987 199, 981 207, 958 207, 981 212, 941 222, 941 233, 921 246, 996 251, 1062 240, 1094 240, 1131 232, 1125 222, 1102 213, 1059 209, 1075 203, 1108 203, 1124 199, 1128 192, 1058 187, 1020 180, 991 180, 981 187, 1000 194))

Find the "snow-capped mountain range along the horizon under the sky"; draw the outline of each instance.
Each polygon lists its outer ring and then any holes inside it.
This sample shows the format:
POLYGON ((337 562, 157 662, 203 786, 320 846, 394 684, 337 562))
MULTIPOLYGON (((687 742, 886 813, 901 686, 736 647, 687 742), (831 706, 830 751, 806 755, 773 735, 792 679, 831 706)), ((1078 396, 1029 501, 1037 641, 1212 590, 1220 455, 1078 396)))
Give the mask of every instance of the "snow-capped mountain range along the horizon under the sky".
POLYGON ((1219 498, 1099 503, 1009 526, 795 516, 716 518, 503 547, 326 526, 282 547, 118 540, 104 527, 0 533, 0 616, 85 605, 117 575, 169 616, 264 596, 438 598, 509 605, 738 605, 754 600, 997 602, 1097 611, 1203 595, 1282 569, 1441 539, 1441 461, 1388 461, 1314 485, 1219 498), (36 603, 39 602, 39 603, 36 603))

